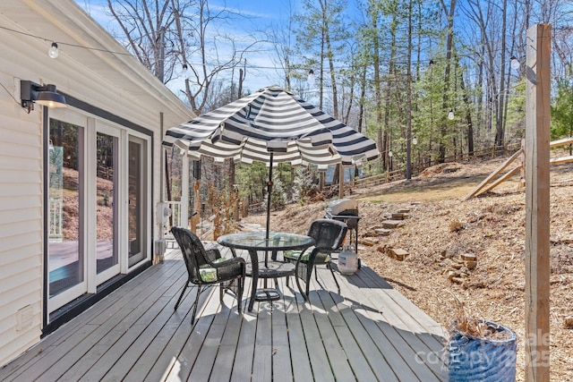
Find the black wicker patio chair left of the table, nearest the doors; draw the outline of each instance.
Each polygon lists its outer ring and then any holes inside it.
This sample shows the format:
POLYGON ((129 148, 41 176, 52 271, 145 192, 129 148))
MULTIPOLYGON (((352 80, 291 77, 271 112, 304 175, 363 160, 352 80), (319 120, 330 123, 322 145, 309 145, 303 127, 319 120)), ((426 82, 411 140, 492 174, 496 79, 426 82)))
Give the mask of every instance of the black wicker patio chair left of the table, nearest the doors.
POLYGON ((177 244, 183 253, 185 266, 187 267, 187 281, 179 300, 175 303, 175 310, 183 300, 187 287, 197 285, 197 295, 192 305, 191 325, 195 321, 195 313, 199 304, 199 297, 202 292, 210 286, 219 284, 219 298, 223 301, 225 291, 235 294, 237 299, 237 310, 241 313, 243 301, 244 272, 246 262, 243 258, 235 255, 231 259, 222 259, 217 247, 205 249, 201 239, 190 230, 182 227, 173 227, 171 232, 175 236, 177 244))

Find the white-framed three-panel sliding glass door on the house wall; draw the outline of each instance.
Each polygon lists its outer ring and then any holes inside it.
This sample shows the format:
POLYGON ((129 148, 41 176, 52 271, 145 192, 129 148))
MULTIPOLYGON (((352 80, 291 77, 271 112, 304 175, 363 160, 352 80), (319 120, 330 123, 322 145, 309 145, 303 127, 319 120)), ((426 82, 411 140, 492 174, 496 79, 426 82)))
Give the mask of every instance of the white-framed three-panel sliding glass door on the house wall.
POLYGON ((73 110, 50 112, 47 310, 150 259, 150 136, 73 110))

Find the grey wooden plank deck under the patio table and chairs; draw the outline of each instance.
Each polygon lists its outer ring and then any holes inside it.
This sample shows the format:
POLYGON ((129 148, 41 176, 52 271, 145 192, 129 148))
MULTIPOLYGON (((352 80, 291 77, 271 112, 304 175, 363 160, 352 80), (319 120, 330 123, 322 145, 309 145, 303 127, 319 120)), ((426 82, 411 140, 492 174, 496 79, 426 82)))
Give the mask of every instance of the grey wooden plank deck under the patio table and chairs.
MULTIPOLYGON (((279 280, 284 298, 239 315, 235 299, 203 293, 195 327, 177 311, 186 280, 179 250, 47 335, 0 369, 3 381, 439 381, 443 330, 372 269, 326 269, 310 302, 279 280), (330 291, 330 292, 329 292, 330 291)), ((251 279, 247 278, 246 309, 251 279)), ((294 286, 294 287, 293 287, 294 286)))

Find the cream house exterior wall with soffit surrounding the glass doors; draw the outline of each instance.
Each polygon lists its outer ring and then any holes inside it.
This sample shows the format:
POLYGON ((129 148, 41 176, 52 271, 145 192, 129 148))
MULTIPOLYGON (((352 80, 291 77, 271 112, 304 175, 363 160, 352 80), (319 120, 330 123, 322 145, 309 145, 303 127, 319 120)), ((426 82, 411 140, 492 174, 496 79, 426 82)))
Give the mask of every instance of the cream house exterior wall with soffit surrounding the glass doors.
MULTIPOLYGON (((20 105, 20 81, 56 84, 57 90, 152 132, 151 184, 160 195, 161 127, 192 118, 192 112, 129 55, 72 0, 25 0, 0 4, 0 365, 13 360, 42 334, 44 288, 43 108, 20 105), (14 32, 14 30, 20 32, 14 32), (60 48, 47 56, 49 42, 60 48)), ((49 113, 49 112, 48 112, 49 113)), ((158 239, 155 211, 152 234, 158 239)))

